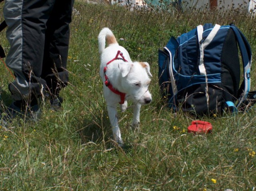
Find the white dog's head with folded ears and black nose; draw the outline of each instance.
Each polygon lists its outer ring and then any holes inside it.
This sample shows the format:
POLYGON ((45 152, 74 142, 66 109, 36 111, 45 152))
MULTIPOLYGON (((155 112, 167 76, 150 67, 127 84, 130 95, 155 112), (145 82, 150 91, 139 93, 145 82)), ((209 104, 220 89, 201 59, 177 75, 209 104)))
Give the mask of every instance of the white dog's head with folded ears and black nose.
POLYGON ((150 66, 147 62, 121 63, 118 65, 122 74, 122 89, 133 102, 148 104, 152 96, 148 91, 150 66))

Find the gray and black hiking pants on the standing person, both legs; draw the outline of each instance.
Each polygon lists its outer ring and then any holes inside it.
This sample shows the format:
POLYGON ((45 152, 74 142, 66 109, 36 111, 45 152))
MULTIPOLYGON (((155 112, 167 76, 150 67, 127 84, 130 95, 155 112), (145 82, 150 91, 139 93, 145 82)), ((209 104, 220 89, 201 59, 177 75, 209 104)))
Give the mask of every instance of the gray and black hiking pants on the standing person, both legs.
POLYGON ((10 50, 6 65, 16 79, 14 100, 59 94, 68 83, 66 70, 74 0, 5 0, 4 19, 10 50))

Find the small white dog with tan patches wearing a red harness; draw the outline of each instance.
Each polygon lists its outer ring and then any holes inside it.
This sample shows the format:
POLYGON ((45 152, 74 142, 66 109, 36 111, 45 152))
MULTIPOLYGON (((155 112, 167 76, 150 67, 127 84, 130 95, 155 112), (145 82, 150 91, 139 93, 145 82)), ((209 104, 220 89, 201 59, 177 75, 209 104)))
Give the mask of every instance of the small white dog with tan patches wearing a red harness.
POLYGON ((100 77, 103 81, 108 116, 114 140, 119 146, 123 146, 118 127, 117 106, 120 104, 121 110, 125 111, 127 100, 132 100, 134 103, 132 126, 138 127, 140 123, 140 106, 148 104, 152 100, 152 96, 148 91, 152 75, 148 63, 132 62, 129 53, 124 47, 118 45, 114 34, 109 28, 103 28, 99 33, 98 43, 100 77), (106 43, 108 47, 106 47, 106 43))

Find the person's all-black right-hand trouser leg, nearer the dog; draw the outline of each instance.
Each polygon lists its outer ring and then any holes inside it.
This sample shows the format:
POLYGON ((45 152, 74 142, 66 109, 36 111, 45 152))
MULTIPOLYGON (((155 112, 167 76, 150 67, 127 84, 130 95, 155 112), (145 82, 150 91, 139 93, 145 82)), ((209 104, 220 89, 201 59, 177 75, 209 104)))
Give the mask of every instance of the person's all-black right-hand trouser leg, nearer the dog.
POLYGON ((58 98, 60 89, 68 84, 66 66, 73 4, 74 0, 56 0, 46 23, 42 78, 46 80, 51 101, 58 98))

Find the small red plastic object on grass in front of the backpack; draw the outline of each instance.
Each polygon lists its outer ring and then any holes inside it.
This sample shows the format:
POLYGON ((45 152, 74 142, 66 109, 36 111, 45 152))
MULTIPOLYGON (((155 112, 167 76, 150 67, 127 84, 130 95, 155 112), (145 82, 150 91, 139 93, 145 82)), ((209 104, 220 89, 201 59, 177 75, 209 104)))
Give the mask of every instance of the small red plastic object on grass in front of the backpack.
POLYGON ((192 121, 191 125, 188 126, 188 132, 189 133, 194 133, 194 134, 211 133, 212 132, 212 124, 210 124, 207 121, 200 121, 200 120, 192 121))

